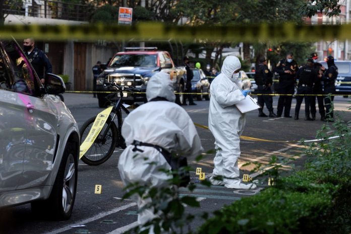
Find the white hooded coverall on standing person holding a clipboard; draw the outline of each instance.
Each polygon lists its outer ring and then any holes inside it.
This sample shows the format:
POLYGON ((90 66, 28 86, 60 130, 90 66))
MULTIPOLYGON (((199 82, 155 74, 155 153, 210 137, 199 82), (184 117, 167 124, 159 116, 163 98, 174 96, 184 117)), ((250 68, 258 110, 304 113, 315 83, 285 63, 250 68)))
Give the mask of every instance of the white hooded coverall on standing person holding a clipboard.
POLYGON ((245 96, 238 88, 238 78, 232 78, 232 74, 240 68, 238 57, 227 56, 221 73, 210 86, 208 126, 215 138, 216 149, 210 181, 227 188, 254 189, 256 185, 243 184, 239 178, 240 136, 245 126, 245 113, 240 112, 235 104, 245 96), (223 181, 214 180, 217 175, 223 176, 223 181))

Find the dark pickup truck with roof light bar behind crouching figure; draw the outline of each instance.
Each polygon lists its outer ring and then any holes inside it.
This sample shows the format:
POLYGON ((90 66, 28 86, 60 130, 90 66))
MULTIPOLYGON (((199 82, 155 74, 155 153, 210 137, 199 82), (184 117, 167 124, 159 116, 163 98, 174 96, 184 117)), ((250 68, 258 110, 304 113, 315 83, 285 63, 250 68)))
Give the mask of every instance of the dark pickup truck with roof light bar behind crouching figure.
MULTIPOLYGON (((184 68, 177 68, 167 51, 159 51, 156 47, 125 48, 126 51, 116 53, 107 68, 96 80, 97 91, 114 91, 104 86, 105 82, 114 81, 118 85, 133 86, 141 92, 146 92, 149 79, 160 71, 170 74, 174 92, 184 92, 186 72, 184 68)), ((108 93, 97 93, 99 107, 106 107, 110 103, 105 98, 108 93)), ((176 102, 183 103, 183 94, 177 94, 176 102)), ((124 93, 126 104, 136 101, 146 102, 145 93, 124 93)))

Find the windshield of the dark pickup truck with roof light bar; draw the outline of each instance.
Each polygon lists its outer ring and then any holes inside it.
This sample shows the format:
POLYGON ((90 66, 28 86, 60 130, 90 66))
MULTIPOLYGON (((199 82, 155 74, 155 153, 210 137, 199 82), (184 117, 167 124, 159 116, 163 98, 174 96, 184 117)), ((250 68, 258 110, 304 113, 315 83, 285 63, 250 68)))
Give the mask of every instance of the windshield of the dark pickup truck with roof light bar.
POLYGON ((119 67, 157 67, 156 54, 116 55, 110 63, 111 68, 119 67))

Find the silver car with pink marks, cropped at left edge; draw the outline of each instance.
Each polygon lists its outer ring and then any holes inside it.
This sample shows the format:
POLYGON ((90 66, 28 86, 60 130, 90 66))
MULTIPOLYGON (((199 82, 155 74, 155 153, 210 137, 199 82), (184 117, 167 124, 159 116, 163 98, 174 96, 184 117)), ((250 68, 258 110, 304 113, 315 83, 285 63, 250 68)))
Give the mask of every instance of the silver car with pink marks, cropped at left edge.
POLYGON ((36 214, 70 218, 80 135, 61 77, 40 83, 15 40, 0 41, 0 208, 31 203, 36 214))

